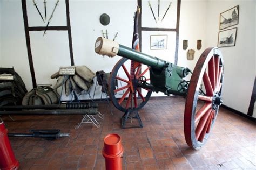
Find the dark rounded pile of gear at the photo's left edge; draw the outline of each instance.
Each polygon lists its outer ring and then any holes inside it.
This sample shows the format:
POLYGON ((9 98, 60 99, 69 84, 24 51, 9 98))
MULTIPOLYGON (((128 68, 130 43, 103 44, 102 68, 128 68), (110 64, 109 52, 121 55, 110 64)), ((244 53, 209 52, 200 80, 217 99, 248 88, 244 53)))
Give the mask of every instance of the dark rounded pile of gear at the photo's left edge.
POLYGON ((26 86, 14 68, 0 68, 0 75, 11 75, 13 80, 0 80, 0 106, 21 105, 22 98, 28 92, 26 86))

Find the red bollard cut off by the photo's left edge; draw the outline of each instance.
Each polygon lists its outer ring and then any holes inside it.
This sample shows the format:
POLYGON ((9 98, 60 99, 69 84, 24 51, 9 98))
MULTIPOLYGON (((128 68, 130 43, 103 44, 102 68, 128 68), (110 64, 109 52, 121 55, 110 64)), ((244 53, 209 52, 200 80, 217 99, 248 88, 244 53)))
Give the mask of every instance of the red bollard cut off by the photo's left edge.
POLYGON ((0 123, 0 169, 18 169, 19 162, 15 159, 7 133, 4 123, 0 123))

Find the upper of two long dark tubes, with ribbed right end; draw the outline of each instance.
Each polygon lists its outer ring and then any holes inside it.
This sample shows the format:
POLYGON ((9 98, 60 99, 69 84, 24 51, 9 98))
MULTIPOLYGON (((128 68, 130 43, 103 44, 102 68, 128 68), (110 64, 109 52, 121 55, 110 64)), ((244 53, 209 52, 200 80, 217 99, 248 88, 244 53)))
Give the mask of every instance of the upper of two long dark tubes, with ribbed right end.
POLYGON ((22 110, 22 109, 89 109, 98 108, 98 103, 62 103, 49 105, 12 105, 0 107, 0 110, 22 110))

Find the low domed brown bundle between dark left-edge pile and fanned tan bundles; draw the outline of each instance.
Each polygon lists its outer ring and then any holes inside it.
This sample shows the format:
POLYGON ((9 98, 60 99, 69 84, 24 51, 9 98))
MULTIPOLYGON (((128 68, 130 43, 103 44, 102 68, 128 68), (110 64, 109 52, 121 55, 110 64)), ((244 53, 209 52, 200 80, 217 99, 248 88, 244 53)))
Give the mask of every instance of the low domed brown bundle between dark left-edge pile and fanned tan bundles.
POLYGON ((49 86, 39 86, 23 97, 22 105, 57 104, 59 100, 60 96, 55 89, 49 86))

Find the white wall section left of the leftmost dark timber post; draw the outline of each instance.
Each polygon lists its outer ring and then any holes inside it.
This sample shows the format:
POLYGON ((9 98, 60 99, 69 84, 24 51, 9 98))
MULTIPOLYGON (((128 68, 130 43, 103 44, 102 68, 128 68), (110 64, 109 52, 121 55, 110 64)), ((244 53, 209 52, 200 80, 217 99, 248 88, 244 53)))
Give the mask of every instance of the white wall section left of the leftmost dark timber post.
POLYGON ((1 1, 1 67, 14 67, 32 88, 21 1, 1 1))

